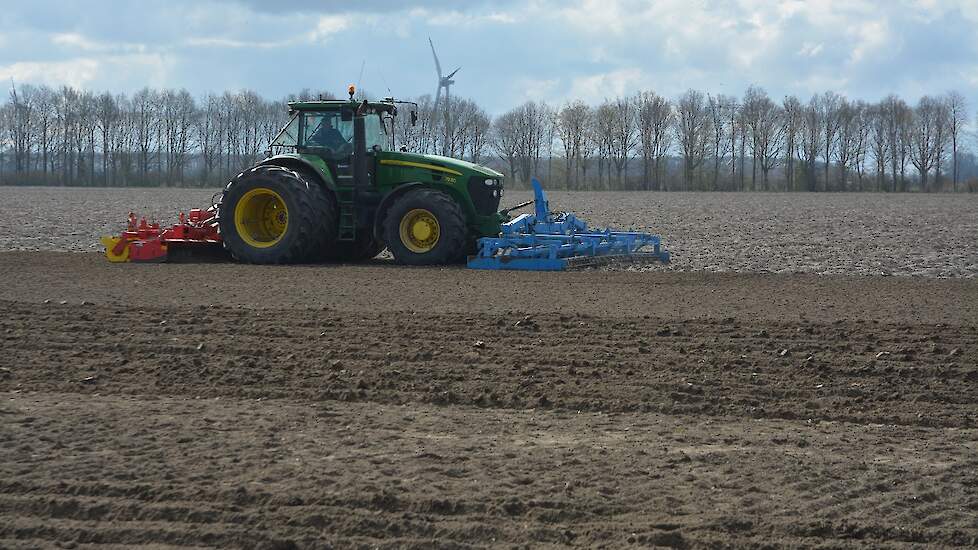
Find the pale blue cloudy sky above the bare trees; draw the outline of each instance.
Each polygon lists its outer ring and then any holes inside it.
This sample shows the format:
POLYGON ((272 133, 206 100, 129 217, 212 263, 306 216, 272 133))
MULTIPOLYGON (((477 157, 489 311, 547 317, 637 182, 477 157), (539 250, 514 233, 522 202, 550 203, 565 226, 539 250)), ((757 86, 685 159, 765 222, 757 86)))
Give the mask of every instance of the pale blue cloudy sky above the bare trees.
MULTIPOLYGON (((499 113, 688 88, 978 104, 978 0, 0 0, 0 79, 283 97, 453 93, 499 113), (365 61, 365 64, 364 64, 365 61)), ((6 85, 5 85, 6 86, 6 85)))

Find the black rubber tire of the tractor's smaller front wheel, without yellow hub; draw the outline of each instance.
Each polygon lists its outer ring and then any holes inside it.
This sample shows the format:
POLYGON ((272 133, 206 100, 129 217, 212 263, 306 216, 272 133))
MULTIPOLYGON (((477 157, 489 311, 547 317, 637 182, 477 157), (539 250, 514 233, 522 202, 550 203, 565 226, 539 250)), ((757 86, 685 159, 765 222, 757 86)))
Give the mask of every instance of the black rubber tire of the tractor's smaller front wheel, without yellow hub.
POLYGON ((415 189, 398 198, 384 217, 384 240, 394 261, 405 265, 443 265, 459 261, 465 253, 468 231, 462 208, 450 196, 434 189, 415 189), (430 212, 438 221, 438 241, 431 250, 411 251, 400 235, 401 219, 415 209, 430 212))

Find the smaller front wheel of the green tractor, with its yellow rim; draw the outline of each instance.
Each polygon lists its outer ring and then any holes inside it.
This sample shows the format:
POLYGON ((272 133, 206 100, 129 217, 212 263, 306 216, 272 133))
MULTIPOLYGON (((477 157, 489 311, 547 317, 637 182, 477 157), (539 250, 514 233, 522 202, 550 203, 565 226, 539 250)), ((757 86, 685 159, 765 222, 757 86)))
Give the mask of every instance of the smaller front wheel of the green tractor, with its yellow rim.
POLYGON ((384 219, 384 240, 400 264, 454 263, 464 253, 466 236, 461 207, 434 189, 408 191, 384 219))

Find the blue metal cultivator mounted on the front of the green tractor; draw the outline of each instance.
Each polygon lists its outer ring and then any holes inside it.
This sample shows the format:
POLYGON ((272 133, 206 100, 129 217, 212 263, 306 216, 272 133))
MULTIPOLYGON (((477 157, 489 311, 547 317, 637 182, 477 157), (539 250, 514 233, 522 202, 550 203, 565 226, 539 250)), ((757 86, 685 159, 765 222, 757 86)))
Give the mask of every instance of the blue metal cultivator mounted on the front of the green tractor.
POLYGON ((573 214, 552 213, 536 178, 533 194, 535 214, 521 214, 502 224, 499 237, 479 239, 478 252, 469 257, 470 268, 561 271, 618 258, 669 261, 657 235, 588 229, 573 214))

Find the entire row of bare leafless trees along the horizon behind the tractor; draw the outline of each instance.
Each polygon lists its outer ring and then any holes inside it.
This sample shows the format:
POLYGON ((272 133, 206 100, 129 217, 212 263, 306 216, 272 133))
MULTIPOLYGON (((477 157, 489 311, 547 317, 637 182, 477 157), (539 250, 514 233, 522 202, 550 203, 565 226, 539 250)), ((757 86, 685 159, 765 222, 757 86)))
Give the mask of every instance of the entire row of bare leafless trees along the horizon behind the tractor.
MULTIPOLYGON (((333 97, 12 86, 0 104, 0 183, 220 185, 266 154, 287 101, 333 97)), ((496 117, 465 98, 437 112, 430 95, 415 101, 417 124, 400 116, 391 129, 398 148, 490 165, 516 185, 541 177, 575 190, 978 190, 971 115, 953 91, 914 105, 834 92, 777 102, 756 86, 742 98, 643 91, 598 105, 530 101, 496 117)))

